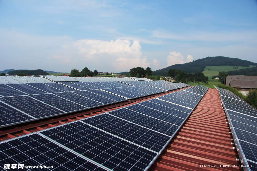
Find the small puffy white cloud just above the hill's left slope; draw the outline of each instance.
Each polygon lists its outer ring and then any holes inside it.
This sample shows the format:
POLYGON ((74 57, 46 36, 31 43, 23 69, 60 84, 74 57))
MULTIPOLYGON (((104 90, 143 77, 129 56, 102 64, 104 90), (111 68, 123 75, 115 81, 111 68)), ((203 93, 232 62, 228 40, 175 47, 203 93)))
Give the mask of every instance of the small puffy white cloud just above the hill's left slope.
POLYGON ((175 65, 175 64, 183 64, 186 62, 192 62, 193 61, 193 56, 192 55, 187 55, 187 59, 185 61, 184 56, 181 55, 180 52, 170 52, 169 56, 167 57, 167 66, 170 65, 175 65))

